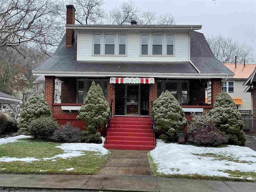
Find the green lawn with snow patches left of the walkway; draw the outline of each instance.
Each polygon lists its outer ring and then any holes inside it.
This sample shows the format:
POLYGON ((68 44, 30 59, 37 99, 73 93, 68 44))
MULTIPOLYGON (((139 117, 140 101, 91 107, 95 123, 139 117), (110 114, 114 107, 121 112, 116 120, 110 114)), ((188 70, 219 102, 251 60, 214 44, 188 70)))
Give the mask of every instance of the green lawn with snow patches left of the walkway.
POLYGON ((103 137, 102 144, 58 144, 19 140, 22 138, 31 138, 31 136, 19 135, 0 139, 0 172, 58 173, 76 171, 79 174, 95 174, 108 159, 109 151, 103 147, 103 137))

